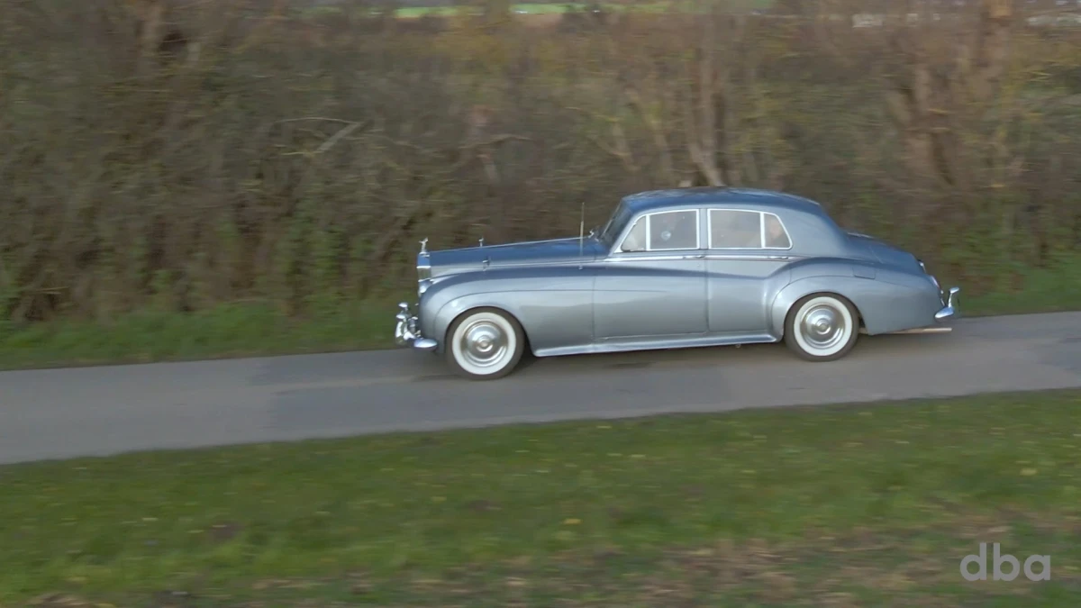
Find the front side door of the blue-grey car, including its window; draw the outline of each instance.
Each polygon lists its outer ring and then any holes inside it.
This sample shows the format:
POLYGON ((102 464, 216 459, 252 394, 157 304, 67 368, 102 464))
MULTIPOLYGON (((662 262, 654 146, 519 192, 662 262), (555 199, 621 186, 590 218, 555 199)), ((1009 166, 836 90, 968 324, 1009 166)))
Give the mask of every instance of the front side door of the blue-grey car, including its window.
POLYGON ((593 283, 599 342, 706 333, 702 223, 698 209, 645 214, 613 247, 593 283))

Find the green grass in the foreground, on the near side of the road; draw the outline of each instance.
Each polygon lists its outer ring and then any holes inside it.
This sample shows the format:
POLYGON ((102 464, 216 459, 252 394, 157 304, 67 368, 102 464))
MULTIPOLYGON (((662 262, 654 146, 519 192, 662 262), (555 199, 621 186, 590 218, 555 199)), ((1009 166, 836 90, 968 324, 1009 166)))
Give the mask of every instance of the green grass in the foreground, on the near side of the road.
POLYGON ((1030 393, 0 467, 0 605, 1073 608, 1079 411, 1030 393), (980 542, 1051 555, 1052 580, 965 582, 980 542))

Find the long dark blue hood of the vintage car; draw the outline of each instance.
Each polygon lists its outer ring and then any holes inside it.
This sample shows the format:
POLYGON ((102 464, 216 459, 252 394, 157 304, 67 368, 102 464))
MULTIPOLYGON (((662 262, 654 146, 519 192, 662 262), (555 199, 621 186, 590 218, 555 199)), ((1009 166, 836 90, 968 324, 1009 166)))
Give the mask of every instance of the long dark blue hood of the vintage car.
POLYGON ((485 263, 489 267, 497 267, 591 261, 597 259, 601 249, 597 239, 571 237, 432 251, 429 260, 432 275, 438 275, 452 269, 480 267, 485 263))

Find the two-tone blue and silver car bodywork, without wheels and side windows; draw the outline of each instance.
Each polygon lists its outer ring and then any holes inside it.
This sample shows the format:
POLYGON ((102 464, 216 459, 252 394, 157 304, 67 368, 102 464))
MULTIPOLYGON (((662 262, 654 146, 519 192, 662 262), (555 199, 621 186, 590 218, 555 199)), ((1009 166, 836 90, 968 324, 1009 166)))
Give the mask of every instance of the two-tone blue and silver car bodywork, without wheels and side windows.
POLYGON ((463 313, 512 315, 536 356, 777 342, 790 307, 833 293, 879 334, 935 326, 953 315, 911 253, 839 227, 815 201, 738 188, 681 188, 624 198, 585 237, 431 251, 417 256, 419 302, 399 314, 399 343, 441 352, 463 313), (776 215, 787 249, 709 249, 709 210, 776 215), (698 213, 698 247, 620 251, 646 214, 698 213), (936 315, 938 318, 936 318, 936 315), (410 325, 412 323, 412 325, 410 325))

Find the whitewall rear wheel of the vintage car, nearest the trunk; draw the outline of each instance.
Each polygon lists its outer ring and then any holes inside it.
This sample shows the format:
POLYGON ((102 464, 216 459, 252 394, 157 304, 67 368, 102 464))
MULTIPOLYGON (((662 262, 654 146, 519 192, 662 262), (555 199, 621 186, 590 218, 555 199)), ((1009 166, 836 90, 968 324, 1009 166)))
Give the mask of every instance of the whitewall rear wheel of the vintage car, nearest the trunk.
POLYGON ((808 295, 792 306, 785 321, 785 343, 809 361, 840 359, 858 338, 856 309, 839 295, 808 295))

